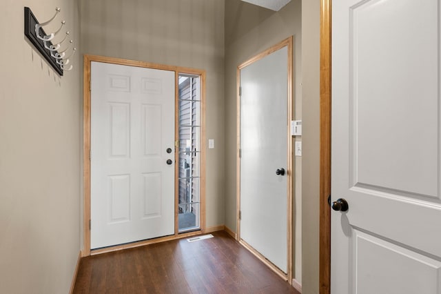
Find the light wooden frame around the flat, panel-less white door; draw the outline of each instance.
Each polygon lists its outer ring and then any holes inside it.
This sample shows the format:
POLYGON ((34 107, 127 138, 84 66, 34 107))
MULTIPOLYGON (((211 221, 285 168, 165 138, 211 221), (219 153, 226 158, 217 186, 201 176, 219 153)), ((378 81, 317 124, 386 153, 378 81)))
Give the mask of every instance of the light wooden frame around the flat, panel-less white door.
POLYGON ((285 46, 288 49, 288 58, 287 58, 287 66, 288 66, 288 75, 287 75, 287 104, 288 104, 288 112, 287 112, 287 119, 288 121, 291 121, 293 119, 293 37, 288 37, 287 39, 280 41, 276 45, 272 46, 271 48, 268 48, 267 50, 260 52, 255 57, 252 57, 251 59, 241 63, 237 67, 236 71, 236 101, 237 101, 237 145, 236 145, 236 225, 237 225, 237 233, 236 233, 236 239, 240 244, 245 246, 249 251, 251 251, 258 259, 260 259, 263 263, 267 264, 269 268, 271 268, 275 273, 280 275, 284 280, 287 280, 289 284, 291 284, 292 280, 292 251, 293 251, 293 240, 292 240, 292 227, 293 227, 293 217, 292 217, 292 206, 293 206, 293 179, 294 179, 294 168, 293 168, 293 147, 292 147, 292 136, 290 132, 290 128, 287 128, 287 143, 288 143, 288 151, 287 151, 287 273, 283 273, 277 266, 269 262, 268 259, 265 258, 262 254, 258 253, 252 246, 247 244, 245 241, 243 241, 240 238, 240 156, 239 156, 239 149, 240 149, 240 70, 245 68, 246 66, 249 66, 251 63, 254 63, 255 61, 258 61, 260 59, 263 59, 263 57, 266 57, 270 55, 271 53, 284 48, 285 46))

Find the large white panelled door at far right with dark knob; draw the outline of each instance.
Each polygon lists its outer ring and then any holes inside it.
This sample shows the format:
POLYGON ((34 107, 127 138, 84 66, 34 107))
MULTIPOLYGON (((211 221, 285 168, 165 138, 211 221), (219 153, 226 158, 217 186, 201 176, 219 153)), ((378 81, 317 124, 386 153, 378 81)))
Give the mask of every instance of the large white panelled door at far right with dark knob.
POLYGON ((441 293, 440 1, 332 4, 331 293, 441 293))

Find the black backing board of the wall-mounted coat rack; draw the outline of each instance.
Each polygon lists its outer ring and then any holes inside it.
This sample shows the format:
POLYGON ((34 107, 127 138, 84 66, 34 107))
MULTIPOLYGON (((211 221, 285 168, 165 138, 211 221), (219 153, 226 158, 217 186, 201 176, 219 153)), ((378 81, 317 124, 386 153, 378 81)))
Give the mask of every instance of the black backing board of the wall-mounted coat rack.
MULTIPOLYGON (((37 21, 37 18, 32 13, 32 10, 30 8, 25 7, 25 36, 29 39, 29 41, 34 45, 37 50, 43 55, 43 57, 48 61, 50 66, 54 68, 56 72, 58 72, 59 75, 63 75, 63 69, 59 63, 57 63, 57 59, 51 56, 50 50, 46 49, 43 43, 43 40, 37 38, 37 35, 35 34, 35 25, 39 24, 39 21, 37 21)), ((40 28, 39 30, 41 36, 45 36, 46 33, 43 30, 43 28, 40 28)), ((52 45, 51 41, 46 41, 48 47, 52 45)), ((53 55, 57 55, 57 51, 52 51, 53 55)))

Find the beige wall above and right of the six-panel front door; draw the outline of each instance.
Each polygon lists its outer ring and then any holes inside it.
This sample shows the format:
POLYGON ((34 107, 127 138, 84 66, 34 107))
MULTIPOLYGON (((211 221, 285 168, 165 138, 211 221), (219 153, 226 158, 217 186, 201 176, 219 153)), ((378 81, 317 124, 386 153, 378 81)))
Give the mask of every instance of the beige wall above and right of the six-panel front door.
POLYGON ((224 224, 223 10, 219 0, 81 0, 84 54, 206 70, 206 135, 216 146, 207 148, 207 226, 224 224))

